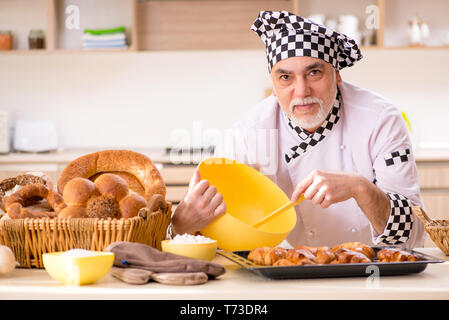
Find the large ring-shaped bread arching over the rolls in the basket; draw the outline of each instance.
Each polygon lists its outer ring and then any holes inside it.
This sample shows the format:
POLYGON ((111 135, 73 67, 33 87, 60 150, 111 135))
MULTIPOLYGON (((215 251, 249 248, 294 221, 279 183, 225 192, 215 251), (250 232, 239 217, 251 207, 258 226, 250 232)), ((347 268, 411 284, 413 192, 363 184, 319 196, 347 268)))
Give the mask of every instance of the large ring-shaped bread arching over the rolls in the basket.
MULTIPOLYGON (((146 201, 155 194, 166 195, 165 183, 153 162, 147 156, 129 150, 105 150, 75 159, 61 173, 58 190, 62 192, 73 178, 93 180, 101 173, 125 173, 133 184, 140 185, 136 187, 140 190, 133 190, 146 201)), ((132 184, 128 182, 128 185, 131 187, 132 184)))

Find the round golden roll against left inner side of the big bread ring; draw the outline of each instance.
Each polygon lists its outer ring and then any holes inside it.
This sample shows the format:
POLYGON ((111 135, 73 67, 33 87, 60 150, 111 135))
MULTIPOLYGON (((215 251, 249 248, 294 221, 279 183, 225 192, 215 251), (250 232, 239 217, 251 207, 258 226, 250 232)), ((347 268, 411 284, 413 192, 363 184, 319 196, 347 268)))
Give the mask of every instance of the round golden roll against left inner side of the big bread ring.
POLYGON ((68 206, 86 206, 87 201, 94 193, 95 184, 92 181, 77 177, 67 182, 62 197, 68 206))

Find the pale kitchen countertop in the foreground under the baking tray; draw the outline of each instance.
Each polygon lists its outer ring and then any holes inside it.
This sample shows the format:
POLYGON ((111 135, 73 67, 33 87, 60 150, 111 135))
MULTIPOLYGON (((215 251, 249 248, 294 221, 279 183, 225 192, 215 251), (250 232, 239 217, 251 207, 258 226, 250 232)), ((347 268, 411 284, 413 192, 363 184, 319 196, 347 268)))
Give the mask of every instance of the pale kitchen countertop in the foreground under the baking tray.
POLYGON ((16 269, 0 276, 0 299, 449 299, 449 257, 438 248, 417 251, 446 262, 429 264, 418 274, 380 277, 377 283, 365 277, 269 280, 217 255, 214 261, 225 266, 226 273, 196 286, 130 285, 108 274, 95 284, 70 287, 43 269, 16 269))

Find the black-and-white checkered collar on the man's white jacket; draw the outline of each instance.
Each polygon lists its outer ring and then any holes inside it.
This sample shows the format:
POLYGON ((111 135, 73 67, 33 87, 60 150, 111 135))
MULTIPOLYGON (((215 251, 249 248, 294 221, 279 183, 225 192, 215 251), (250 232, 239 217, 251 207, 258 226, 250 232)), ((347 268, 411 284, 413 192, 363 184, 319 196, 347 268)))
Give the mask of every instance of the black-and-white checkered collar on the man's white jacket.
POLYGON ((334 105, 332 106, 331 111, 326 117, 326 120, 324 120, 323 124, 313 133, 309 133, 298 126, 294 126, 291 120, 288 117, 286 117, 288 121, 288 126, 293 131, 295 131, 295 133, 301 140, 299 145, 291 147, 289 152, 285 154, 285 161, 287 161, 287 163, 289 163, 293 159, 296 159, 309 149, 313 148, 320 141, 323 141, 326 135, 329 134, 329 132, 332 130, 332 128, 335 126, 335 124, 337 124, 338 120, 340 119, 341 105, 342 105, 341 94, 340 90, 338 90, 334 105))

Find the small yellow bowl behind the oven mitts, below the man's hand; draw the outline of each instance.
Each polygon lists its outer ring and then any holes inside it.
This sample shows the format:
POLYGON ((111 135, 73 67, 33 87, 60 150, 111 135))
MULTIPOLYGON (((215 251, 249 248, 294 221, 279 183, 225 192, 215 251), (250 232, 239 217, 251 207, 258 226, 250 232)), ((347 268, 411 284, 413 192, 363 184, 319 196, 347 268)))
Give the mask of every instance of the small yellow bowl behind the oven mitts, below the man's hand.
POLYGON ((177 243, 173 240, 163 240, 162 251, 178 254, 194 259, 212 261, 217 251, 217 241, 208 243, 177 243))

